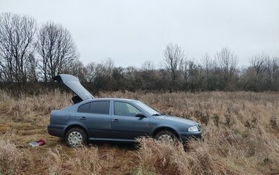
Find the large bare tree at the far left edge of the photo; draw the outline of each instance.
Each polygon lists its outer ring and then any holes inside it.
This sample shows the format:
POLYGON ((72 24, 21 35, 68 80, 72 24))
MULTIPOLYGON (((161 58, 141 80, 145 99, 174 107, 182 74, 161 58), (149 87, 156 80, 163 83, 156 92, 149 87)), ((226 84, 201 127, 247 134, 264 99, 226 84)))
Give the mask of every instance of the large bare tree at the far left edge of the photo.
POLYGON ((29 56, 33 54, 36 21, 10 12, 0 15, 0 71, 3 81, 27 81, 29 56))

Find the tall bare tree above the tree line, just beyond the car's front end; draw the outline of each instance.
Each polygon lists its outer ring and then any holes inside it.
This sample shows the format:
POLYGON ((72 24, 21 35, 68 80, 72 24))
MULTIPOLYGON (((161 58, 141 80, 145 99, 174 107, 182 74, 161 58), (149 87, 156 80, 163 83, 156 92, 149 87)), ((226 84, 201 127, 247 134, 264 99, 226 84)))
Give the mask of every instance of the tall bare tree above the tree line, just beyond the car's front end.
POLYGON ((236 72, 238 58, 229 48, 223 48, 216 53, 216 63, 220 69, 222 83, 224 83, 224 87, 227 88, 227 85, 229 85, 229 82, 236 72))

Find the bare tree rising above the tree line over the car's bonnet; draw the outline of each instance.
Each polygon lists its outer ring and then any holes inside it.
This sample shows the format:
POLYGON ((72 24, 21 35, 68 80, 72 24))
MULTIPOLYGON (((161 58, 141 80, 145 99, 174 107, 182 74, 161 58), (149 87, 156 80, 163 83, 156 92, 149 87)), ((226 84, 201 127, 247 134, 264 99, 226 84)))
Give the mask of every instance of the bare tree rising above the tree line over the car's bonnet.
POLYGON ((176 83, 179 69, 183 67, 185 55, 181 47, 177 44, 167 44, 164 51, 163 65, 166 69, 170 70, 172 74, 172 83, 176 83))

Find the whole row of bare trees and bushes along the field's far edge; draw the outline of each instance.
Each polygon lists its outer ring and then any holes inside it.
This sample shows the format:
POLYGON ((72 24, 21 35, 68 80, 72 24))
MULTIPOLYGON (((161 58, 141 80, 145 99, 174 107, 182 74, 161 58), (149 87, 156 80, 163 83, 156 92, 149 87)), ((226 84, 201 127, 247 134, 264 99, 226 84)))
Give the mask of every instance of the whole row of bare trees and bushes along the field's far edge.
POLYGON ((89 90, 213 91, 279 90, 279 58, 259 53, 240 68, 238 57, 225 47, 188 58, 169 43, 159 67, 146 61, 141 67, 116 67, 111 58, 84 65, 70 32, 54 22, 38 26, 36 19, 9 12, 0 14, 0 82, 47 83, 57 74, 73 74, 89 90))

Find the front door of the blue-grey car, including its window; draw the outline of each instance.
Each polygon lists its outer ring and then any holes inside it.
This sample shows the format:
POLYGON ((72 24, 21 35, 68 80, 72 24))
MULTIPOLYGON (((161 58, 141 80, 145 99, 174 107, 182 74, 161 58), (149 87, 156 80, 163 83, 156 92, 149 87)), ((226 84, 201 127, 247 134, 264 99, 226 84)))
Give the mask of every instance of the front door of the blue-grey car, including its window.
POLYGON ((133 104, 113 101, 112 138, 134 140, 149 134, 149 117, 136 117, 142 113, 133 104))

